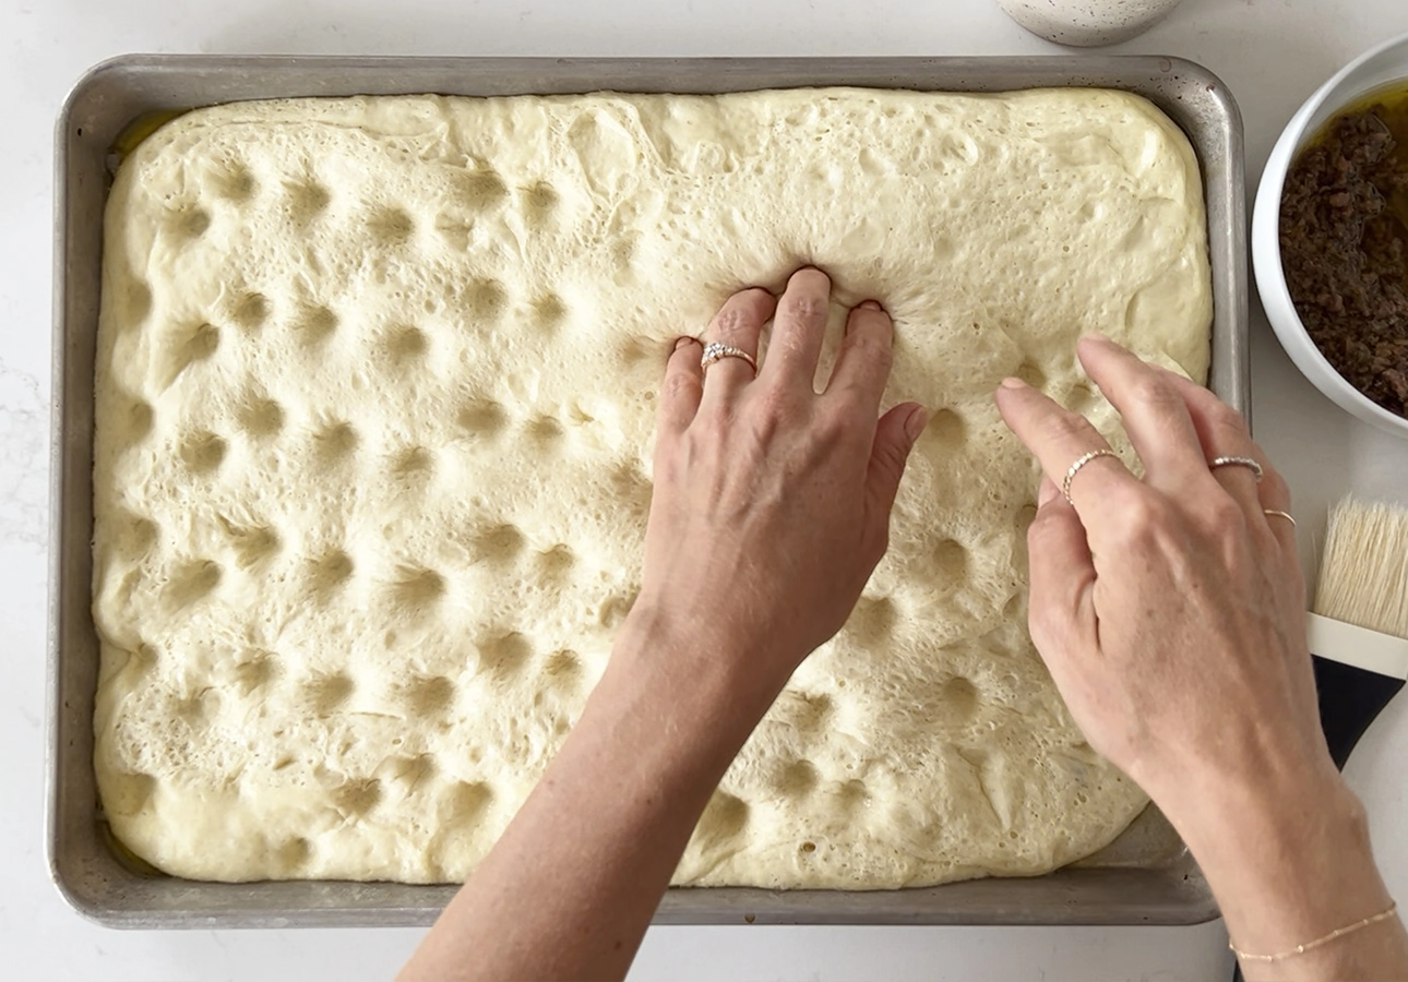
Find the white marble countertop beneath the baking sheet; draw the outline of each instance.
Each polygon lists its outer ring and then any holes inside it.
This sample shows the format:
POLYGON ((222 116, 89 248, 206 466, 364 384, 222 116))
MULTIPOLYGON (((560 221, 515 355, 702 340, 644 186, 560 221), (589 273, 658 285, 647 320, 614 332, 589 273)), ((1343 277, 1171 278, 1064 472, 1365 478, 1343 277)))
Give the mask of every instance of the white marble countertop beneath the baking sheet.
MULTIPOLYGON (((1301 100, 1408 31, 1400 0, 1186 0, 1111 51, 1181 55, 1232 89, 1256 177, 1301 100)), ((439 55, 1055 53, 993 0, 4 0, 0 91, 0 951, 15 979, 384 979, 420 931, 96 927, 42 843, 52 127, 92 63, 132 51, 439 55)), ((1322 398, 1253 314, 1256 431, 1297 495, 1307 556, 1346 491, 1408 501, 1408 442, 1322 398)), ((1408 695, 1349 765, 1390 889, 1408 902, 1408 695)), ((634 978, 1228 978, 1219 923, 1190 929, 655 929, 634 978)))

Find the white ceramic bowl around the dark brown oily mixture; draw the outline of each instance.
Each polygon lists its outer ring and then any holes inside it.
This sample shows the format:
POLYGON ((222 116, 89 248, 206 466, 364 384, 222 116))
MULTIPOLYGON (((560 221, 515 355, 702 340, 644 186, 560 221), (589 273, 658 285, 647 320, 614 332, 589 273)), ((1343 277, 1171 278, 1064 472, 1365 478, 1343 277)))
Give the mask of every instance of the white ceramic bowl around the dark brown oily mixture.
POLYGON ((1286 172, 1295 152, 1340 108, 1367 91, 1404 79, 1408 79, 1408 34, 1352 60, 1307 98, 1291 117, 1271 149, 1266 170, 1262 172, 1262 184, 1256 189, 1256 208, 1252 212, 1252 267, 1256 272, 1256 288, 1262 294, 1266 317, 1271 321, 1281 347, 1295 362, 1295 367, 1342 409, 1366 423, 1408 439, 1408 419, 1390 412, 1345 381, 1305 332, 1305 325, 1301 324, 1291 294, 1286 288, 1280 238, 1281 187, 1286 184, 1286 172))

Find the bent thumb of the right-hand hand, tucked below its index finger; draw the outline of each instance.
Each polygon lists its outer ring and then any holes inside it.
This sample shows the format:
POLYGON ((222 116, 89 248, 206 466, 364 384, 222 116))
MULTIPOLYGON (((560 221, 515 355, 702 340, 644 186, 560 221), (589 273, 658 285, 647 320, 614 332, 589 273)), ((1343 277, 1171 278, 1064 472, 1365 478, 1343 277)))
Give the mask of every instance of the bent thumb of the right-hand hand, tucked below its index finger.
POLYGON ((1026 530, 1031 599, 1028 627, 1052 675, 1060 682, 1062 657, 1094 639, 1091 589, 1095 564, 1086 528, 1050 477, 1042 477, 1036 518, 1026 530))

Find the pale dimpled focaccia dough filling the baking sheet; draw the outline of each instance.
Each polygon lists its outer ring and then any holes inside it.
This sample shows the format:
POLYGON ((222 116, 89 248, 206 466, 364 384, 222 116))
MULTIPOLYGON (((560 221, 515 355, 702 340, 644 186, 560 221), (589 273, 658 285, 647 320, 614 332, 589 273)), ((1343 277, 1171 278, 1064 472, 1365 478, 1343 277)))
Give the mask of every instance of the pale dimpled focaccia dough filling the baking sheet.
MULTIPOLYGON (((458 881, 639 582, 673 336, 804 262, 895 318, 935 409, 888 556, 728 771, 674 881, 1039 874, 1145 798, 1026 636, 1018 373, 1093 415, 1101 329, 1201 378, 1180 131, 1122 93, 231 104, 124 162, 97 357, 97 777, 201 879, 458 881)), ((1131 459, 1132 461, 1132 459, 1131 459)))

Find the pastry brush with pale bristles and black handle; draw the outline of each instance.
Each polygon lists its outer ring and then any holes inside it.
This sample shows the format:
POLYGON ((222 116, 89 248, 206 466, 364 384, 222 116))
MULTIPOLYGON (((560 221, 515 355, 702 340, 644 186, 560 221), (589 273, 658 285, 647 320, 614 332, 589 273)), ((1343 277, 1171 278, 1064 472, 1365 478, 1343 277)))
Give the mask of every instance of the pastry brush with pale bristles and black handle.
POLYGON ((1345 498, 1307 615, 1321 729, 1343 768, 1408 678, 1408 511, 1345 498))

